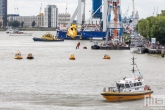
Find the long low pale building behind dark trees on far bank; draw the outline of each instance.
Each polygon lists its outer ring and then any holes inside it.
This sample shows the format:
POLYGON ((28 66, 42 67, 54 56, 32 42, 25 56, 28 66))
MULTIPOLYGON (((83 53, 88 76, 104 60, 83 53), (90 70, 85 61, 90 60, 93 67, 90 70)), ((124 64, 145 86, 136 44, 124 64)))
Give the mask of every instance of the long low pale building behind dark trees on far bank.
POLYGON ((23 27, 32 27, 33 21, 36 23, 34 27, 43 26, 43 16, 16 16, 15 14, 10 14, 8 21, 24 22, 23 27))

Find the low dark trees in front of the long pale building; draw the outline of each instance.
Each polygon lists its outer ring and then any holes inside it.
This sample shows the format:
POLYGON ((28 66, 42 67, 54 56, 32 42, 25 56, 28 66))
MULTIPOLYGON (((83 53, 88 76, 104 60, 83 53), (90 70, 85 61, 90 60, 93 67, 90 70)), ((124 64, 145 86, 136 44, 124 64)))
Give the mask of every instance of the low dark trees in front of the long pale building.
MULTIPOLYGON (((31 26, 34 27, 35 26, 35 21, 33 21, 31 23, 31 26)), ((22 21, 21 23, 19 21, 8 21, 8 26, 12 26, 12 27, 23 27, 24 26, 24 22, 22 21)))

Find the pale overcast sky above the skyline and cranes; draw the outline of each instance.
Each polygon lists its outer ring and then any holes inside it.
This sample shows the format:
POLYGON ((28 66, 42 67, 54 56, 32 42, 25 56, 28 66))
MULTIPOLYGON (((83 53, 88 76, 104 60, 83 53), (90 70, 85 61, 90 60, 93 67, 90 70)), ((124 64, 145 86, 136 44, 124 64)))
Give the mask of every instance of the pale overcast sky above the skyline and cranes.
MULTIPOLYGON (((161 12, 161 10, 165 10, 165 0, 134 0, 135 1, 135 10, 139 12, 140 18, 146 18, 148 16, 153 15, 154 7, 155 14, 161 12)), ((66 3, 68 3, 67 12, 71 15, 75 11, 78 0, 8 0, 8 14, 18 13, 20 16, 30 16, 30 15, 38 15, 40 12, 40 6, 42 3, 42 11, 44 12, 44 8, 48 4, 55 4, 59 9, 59 13, 65 13, 66 3), (18 10, 15 8, 18 7, 18 10)), ((121 10, 122 15, 128 11, 128 15, 131 15, 133 6, 132 0, 121 0, 121 10)), ((86 0, 86 19, 89 18, 89 10, 92 9, 92 0, 86 0)))

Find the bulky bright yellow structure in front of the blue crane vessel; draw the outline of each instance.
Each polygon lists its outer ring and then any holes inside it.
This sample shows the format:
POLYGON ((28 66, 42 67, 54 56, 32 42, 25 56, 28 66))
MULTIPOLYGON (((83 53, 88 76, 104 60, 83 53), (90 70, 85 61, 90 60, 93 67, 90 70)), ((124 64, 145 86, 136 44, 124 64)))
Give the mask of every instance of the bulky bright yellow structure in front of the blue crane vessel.
POLYGON ((75 39, 77 36, 76 24, 72 23, 71 27, 67 31, 67 36, 70 36, 72 39, 75 39))

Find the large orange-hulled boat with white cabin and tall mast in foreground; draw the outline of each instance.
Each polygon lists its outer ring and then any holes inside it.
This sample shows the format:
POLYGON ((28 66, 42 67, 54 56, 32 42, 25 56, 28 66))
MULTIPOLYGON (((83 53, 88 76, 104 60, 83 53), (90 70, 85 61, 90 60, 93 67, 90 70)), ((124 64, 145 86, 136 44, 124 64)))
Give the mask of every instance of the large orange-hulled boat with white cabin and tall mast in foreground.
MULTIPOLYGON (((132 58, 133 60, 133 76, 132 78, 123 78, 123 80, 120 80, 116 82, 115 87, 108 87, 108 91, 106 91, 106 88, 103 89, 103 92, 101 95, 109 102, 115 102, 115 101, 126 101, 126 100, 137 100, 137 99, 143 99, 146 97, 151 97, 151 94, 153 91, 151 90, 150 86, 145 85, 143 76, 141 75, 140 71, 138 76, 135 76, 134 72, 134 65, 135 58, 132 58)), ((137 66, 136 66, 137 67, 137 66)))

